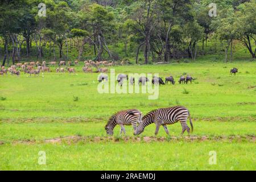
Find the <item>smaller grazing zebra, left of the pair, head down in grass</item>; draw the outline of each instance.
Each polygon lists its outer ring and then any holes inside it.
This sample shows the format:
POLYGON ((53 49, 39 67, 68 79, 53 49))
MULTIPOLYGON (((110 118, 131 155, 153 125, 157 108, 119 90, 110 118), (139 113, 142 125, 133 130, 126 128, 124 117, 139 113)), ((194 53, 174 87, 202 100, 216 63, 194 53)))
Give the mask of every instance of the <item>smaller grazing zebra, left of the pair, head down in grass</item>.
POLYGON ((117 125, 121 126, 120 134, 122 134, 122 132, 126 134, 125 127, 123 125, 132 125, 135 131, 137 129, 137 123, 140 123, 141 119, 142 113, 137 109, 119 111, 109 118, 109 121, 105 126, 106 133, 108 135, 113 135, 114 127, 117 125))

